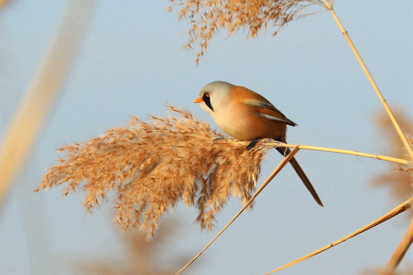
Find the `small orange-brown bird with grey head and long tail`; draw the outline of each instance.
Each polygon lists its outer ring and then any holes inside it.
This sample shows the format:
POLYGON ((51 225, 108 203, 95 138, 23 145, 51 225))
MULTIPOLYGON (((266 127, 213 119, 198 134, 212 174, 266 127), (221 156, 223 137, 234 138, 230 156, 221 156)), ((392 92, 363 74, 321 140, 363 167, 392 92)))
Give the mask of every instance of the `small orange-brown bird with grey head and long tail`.
MULTIPOLYGON (((204 86, 194 103, 199 103, 201 109, 209 113, 228 135, 240 141, 250 141, 246 150, 264 138, 287 143, 287 125, 297 126, 260 94, 225 81, 214 81, 204 86)), ((279 147, 277 150, 283 156, 291 153, 288 147, 279 147)), ((315 201, 323 206, 297 160, 292 158, 290 164, 315 201)))

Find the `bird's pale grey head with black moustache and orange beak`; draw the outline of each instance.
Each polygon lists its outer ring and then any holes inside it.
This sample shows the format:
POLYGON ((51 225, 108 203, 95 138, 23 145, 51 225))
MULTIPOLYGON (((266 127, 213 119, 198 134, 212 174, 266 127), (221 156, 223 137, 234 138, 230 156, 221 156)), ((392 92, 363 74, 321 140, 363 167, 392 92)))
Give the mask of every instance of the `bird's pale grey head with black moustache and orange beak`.
POLYGON ((211 82, 201 89, 195 102, 199 102, 200 107, 212 115, 213 112, 228 104, 232 86, 234 85, 225 81, 211 82))

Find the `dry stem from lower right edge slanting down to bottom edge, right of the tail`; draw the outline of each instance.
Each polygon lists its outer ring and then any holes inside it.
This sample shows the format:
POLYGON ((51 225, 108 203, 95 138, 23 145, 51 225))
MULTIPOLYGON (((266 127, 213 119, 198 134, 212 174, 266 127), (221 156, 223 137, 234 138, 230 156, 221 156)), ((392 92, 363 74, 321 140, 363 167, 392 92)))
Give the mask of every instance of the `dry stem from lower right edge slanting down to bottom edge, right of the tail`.
POLYGON ((311 258, 311 257, 313 257, 313 256, 315 256, 315 255, 317 255, 317 254, 319 254, 319 253, 321 253, 321 252, 323 252, 323 251, 325 251, 325 250, 327 250, 327 249, 329 249, 329 248, 331 248, 331 247, 339 244, 339 243, 342 243, 342 242, 344 242, 344 241, 347 241, 348 239, 353 238, 354 236, 357 236, 357 235, 359 235, 359 234, 361 234, 361 233, 363 233, 363 232, 365 232, 365 231, 367 231, 367 230, 369 230, 369 229, 371 229, 371 228, 373 228, 373 227, 375 227, 375 226, 377 226, 377 225, 379 225, 379 224, 381 224, 381 223, 383 223, 383 222, 385 222, 385 221, 387 221, 387 220, 389 220, 389 219, 397 216, 398 214, 406 211, 407 209, 409 209, 409 208, 412 207, 412 203, 413 203, 413 197, 409 198, 408 200, 406 200, 405 202, 403 202, 402 204, 400 204, 398 207, 396 207, 396 208, 394 208, 393 210, 391 210, 391 211, 390 211, 389 213, 387 213, 386 215, 384 215, 384 216, 382 216, 381 218, 373 221, 372 223, 366 225, 365 227, 360 228, 359 230, 353 232, 352 234, 350 234, 350 235, 348 235, 348 236, 346 236, 346 237, 344 237, 344 238, 342 238, 342 239, 339 239, 339 240, 337 240, 337 241, 335 241, 335 242, 333 242, 333 243, 331 243, 331 244, 329 244, 329 245, 326 245, 326 246, 324 246, 324 247, 322 247, 322 248, 320 248, 320 249, 318 249, 318 250, 316 250, 316 251, 314 251, 314 252, 312 252, 312 253, 310 253, 310 254, 308 254, 308 255, 305 255, 304 257, 301 257, 301 258, 299 258, 299 259, 297 259, 297 260, 295 260, 295 261, 292 261, 292 262, 290 262, 290 263, 288 263, 288 264, 286 264, 286 265, 283 265, 283 266, 281 266, 281 267, 279 267, 279 268, 277 268, 277 269, 274 269, 274 270, 272 270, 272 271, 269 271, 269 272, 266 273, 266 274, 270 274, 270 273, 274 273, 274 272, 280 271, 280 270, 282 270, 282 269, 284 269, 284 268, 287 268, 287 267, 289 267, 289 266, 291 266, 291 265, 294 265, 294 264, 296 264, 296 263, 299 263, 299 262, 301 262, 301 261, 304 261, 304 260, 306 260, 306 259, 309 259, 309 258, 311 258))

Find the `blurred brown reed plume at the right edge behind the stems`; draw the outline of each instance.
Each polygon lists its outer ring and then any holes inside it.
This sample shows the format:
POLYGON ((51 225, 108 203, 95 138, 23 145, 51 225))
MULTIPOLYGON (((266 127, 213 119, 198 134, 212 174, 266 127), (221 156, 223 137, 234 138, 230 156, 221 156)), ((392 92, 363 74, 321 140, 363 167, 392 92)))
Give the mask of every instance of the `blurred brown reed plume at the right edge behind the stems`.
MULTIPOLYGON (((396 110, 395 117, 403 128, 406 134, 406 139, 410 146, 413 146, 413 123, 405 114, 396 110)), ((393 125, 386 115, 386 113, 380 113, 378 115, 378 124, 380 128, 380 133, 385 135, 385 143, 383 146, 386 148, 386 154, 393 155, 397 158, 410 159, 403 143, 400 141, 397 132, 394 130, 393 125), (391 141, 390 143, 387 141, 391 141)), ((394 165, 391 164, 389 169, 377 175, 374 179, 374 184, 376 186, 389 186, 392 197, 397 201, 403 201, 406 198, 413 196, 413 167, 410 165, 394 165)))

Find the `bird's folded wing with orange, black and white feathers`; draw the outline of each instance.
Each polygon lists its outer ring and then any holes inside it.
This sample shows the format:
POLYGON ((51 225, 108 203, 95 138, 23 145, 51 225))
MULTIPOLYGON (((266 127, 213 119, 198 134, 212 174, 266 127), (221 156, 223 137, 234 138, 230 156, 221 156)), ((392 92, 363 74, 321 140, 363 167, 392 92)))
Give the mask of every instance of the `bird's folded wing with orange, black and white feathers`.
MULTIPOLYGON (((262 97, 263 98, 263 97, 262 97)), ((280 110, 278 110, 274 105, 269 103, 265 98, 263 100, 259 99, 244 99, 242 101, 244 104, 256 107, 255 114, 276 121, 281 121, 290 126, 296 126, 297 124, 292 120, 288 119, 280 110), (264 101, 265 100, 265 101, 264 101)))

